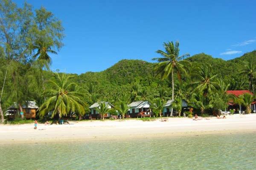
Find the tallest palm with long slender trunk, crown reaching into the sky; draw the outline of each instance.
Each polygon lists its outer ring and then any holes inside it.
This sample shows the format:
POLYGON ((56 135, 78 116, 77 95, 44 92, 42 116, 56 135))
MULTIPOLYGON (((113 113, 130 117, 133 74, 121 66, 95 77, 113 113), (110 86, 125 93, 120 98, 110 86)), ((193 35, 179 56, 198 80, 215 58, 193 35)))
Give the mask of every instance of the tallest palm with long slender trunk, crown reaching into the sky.
MULTIPOLYGON (((180 73, 186 73, 184 65, 180 63, 185 57, 189 57, 189 54, 183 54, 179 57, 179 42, 176 41, 175 45, 173 42, 163 43, 166 52, 162 50, 157 50, 157 53, 162 55, 162 58, 153 58, 159 63, 156 65, 154 70, 157 74, 160 74, 162 79, 169 78, 172 74, 172 101, 174 101, 174 71, 177 72, 177 76, 180 79, 180 73)), ((184 60, 183 60, 184 61, 184 60)), ((173 113, 173 108, 171 109, 171 116, 173 113)))

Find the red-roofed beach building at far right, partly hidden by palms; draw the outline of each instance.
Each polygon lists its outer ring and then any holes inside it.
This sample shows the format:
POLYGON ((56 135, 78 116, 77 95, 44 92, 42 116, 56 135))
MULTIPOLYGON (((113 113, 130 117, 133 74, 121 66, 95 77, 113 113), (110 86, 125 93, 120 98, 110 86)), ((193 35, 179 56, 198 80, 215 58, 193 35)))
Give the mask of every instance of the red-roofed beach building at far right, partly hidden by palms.
MULTIPOLYGON (((252 92, 248 91, 248 90, 239 90, 239 91, 227 91, 227 94, 232 94, 236 97, 239 97, 245 93, 249 93, 251 95, 253 95, 252 92)), ((227 108, 227 111, 229 111, 230 109, 235 109, 235 113, 242 113, 242 111, 245 111, 246 108, 242 105, 238 105, 236 103, 234 103, 232 100, 228 102, 228 108, 227 108)), ((254 100, 251 104, 251 110, 253 112, 256 112, 256 101, 254 100)))

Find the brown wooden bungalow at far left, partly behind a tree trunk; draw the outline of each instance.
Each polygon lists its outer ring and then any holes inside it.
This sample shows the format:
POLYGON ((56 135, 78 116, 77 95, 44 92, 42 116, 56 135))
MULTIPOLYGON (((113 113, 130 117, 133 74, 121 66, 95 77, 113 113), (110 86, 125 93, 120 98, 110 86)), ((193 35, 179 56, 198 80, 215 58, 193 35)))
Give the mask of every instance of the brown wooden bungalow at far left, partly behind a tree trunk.
MULTIPOLYGON (((19 111, 18 108, 18 104, 15 102, 7 109, 5 116, 7 116, 8 119, 14 119, 17 111, 19 111)), ((35 101, 27 101, 26 105, 22 105, 22 111, 25 119, 35 119, 37 110, 38 106, 35 101)))

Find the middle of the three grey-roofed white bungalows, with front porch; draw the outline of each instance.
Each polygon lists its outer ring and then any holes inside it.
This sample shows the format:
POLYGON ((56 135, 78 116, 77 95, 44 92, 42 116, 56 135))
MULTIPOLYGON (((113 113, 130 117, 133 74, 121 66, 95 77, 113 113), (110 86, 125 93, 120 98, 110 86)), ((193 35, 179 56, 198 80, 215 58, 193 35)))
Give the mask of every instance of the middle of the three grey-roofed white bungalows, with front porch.
POLYGON ((128 105, 130 108, 128 115, 130 117, 151 117, 152 112, 150 105, 151 104, 148 101, 131 102, 131 104, 128 105))

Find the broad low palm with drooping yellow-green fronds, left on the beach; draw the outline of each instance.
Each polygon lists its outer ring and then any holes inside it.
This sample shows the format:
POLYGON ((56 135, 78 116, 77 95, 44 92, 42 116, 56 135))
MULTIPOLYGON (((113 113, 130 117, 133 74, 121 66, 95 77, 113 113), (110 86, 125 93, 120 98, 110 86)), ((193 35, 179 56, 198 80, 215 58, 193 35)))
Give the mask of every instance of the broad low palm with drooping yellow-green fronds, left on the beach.
POLYGON ((58 114, 59 119, 67 116, 70 111, 84 113, 83 94, 75 83, 70 83, 70 75, 55 74, 55 79, 49 81, 52 88, 44 92, 43 95, 49 97, 39 108, 39 113, 44 116, 52 111, 52 118, 58 114))

